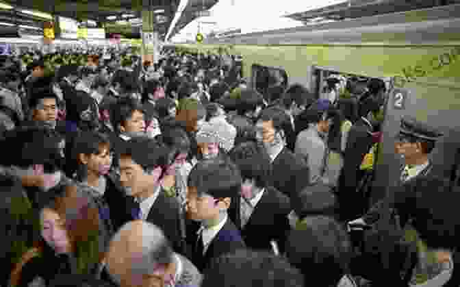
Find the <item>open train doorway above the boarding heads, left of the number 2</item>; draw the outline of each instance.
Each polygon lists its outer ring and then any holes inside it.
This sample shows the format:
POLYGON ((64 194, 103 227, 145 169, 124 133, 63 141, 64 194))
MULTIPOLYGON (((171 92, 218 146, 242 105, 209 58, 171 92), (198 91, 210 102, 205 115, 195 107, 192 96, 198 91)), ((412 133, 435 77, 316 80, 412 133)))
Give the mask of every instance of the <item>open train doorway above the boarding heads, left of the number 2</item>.
MULTIPOLYGON (((358 99, 368 92, 371 82, 381 82, 385 91, 389 91, 390 78, 372 78, 363 75, 343 73, 334 68, 314 66, 311 74, 311 91, 320 99, 337 101, 341 97, 357 97, 358 99), (376 80, 377 79, 377 80, 376 80)), ((386 94, 384 95, 386 97, 386 94)))

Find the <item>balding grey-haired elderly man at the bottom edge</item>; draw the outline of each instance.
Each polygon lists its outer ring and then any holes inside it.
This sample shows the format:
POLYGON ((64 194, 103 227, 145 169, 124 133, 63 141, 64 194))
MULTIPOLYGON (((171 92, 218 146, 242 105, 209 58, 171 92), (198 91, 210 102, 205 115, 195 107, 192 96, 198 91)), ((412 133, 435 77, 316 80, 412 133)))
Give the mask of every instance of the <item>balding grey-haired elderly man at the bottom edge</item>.
POLYGON ((110 242, 107 271, 120 287, 198 287, 201 274, 174 253, 163 232, 146 221, 123 225, 110 242))

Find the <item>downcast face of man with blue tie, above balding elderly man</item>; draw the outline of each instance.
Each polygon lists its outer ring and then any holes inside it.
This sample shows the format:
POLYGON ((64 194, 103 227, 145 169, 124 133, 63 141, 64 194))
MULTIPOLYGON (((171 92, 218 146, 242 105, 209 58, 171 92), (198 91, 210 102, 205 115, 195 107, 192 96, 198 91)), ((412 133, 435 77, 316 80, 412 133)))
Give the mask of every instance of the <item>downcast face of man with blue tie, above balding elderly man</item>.
POLYGON ((157 184, 161 175, 161 166, 157 166, 151 173, 146 173, 129 155, 120 157, 120 183, 129 196, 142 196, 157 184))

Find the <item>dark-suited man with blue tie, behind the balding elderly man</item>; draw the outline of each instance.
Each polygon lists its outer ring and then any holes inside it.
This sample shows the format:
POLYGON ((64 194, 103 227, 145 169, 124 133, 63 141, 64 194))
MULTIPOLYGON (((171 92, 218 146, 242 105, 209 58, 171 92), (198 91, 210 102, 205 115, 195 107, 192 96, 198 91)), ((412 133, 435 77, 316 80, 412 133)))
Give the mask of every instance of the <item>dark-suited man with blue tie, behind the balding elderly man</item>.
POLYGON ((131 197, 131 220, 142 219, 160 227, 173 249, 183 253, 179 227, 180 205, 161 191, 159 184, 168 149, 151 138, 131 138, 120 150, 120 182, 131 197))

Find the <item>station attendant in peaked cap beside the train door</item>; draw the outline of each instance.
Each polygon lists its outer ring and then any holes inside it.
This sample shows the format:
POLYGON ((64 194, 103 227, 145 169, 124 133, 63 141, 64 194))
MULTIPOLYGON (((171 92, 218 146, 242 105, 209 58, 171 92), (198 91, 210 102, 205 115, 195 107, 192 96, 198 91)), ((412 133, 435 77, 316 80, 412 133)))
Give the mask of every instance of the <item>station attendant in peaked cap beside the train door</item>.
MULTIPOLYGON (((405 164, 400 172, 398 185, 429 175, 433 164, 429 154, 435 147, 435 142, 442 134, 433 127, 417 121, 410 116, 403 116, 400 130, 396 136, 395 151, 405 164)), ((379 219, 383 201, 377 202, 362 218, 350 221, 350 225, 372 225, 379 219)))

